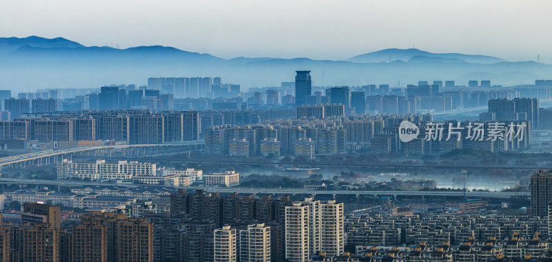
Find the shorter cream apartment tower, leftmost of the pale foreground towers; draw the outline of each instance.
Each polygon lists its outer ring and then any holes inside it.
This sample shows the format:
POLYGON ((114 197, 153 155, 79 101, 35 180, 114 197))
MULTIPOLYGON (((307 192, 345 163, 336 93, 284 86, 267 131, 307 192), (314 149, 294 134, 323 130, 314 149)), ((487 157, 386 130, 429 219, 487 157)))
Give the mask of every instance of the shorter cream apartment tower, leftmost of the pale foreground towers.
POLYGON ((225 225, 215 230, 215 262, 236 262, 236 229, 225 225))

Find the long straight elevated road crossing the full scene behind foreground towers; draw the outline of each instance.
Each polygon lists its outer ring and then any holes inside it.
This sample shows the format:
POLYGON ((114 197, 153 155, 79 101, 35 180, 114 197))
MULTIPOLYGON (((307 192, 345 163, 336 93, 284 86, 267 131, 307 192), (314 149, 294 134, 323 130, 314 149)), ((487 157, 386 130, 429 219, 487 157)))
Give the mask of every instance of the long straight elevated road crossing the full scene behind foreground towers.
MULTIPOLYGON (((20 185, 59 185, 67 187, 77 187, 82 185, 107 186, 120 185, 129 188, 136 188, 138 184, 128 183, 101 183, 90 181, 72 181, 72 180, 41 180, 41 179, 7 179, 0 178, 0 184, 20 184, 20 185)), ((175 188, 176 189, 176 188, 175 188)), ((348 194, 348 195, 372 195, 372 196, 463 196, 462 191, 364 191, 364 190, 307 190, 304 188, 206 188, 204 186, 186 187, 188 190, 205 190, 206 192, 221 193, 241 193, 241 194, 348 194)), ((509 199, 513 196, 530 196, 529 192, 466 192, 471 198, 497 198, 509 199)))

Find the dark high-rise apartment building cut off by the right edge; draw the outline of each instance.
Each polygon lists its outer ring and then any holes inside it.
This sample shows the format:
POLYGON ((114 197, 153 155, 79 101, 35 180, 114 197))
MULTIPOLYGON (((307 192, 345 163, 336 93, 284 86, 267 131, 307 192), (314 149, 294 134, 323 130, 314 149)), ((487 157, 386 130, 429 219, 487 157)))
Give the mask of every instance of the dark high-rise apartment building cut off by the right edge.
POLYGON ((552 201, 552 170, 539 170, 531 176, 531 214, 548 216, 552 201))

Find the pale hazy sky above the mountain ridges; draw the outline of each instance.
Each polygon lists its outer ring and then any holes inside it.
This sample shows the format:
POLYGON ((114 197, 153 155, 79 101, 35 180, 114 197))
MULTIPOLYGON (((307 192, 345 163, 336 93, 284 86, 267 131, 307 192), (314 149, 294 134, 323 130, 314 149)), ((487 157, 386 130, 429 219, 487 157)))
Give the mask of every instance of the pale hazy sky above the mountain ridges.
POLYGON ((384 48, 552 63, 550 0, 0 0, 0 37, 348 59, 384 48))

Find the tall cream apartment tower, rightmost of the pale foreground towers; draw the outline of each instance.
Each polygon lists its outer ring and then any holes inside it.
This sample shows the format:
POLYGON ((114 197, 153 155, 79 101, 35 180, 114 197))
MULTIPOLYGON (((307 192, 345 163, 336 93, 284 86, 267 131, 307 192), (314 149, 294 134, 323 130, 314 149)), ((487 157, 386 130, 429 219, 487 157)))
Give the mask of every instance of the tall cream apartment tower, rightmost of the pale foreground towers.
POLYGON ((345 232, 343 220, 343 203, 328 200, 320 203, 321 246, 320 251, 326 256, 339 256, 344 252, 345 232))

